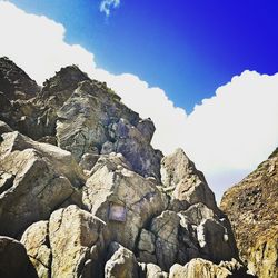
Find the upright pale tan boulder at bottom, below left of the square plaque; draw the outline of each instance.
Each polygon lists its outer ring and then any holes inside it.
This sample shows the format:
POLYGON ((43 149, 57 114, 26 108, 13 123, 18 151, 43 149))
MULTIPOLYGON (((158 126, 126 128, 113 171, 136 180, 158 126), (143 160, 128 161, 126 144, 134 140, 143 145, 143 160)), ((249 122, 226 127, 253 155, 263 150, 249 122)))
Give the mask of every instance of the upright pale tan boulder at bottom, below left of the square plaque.
POLYGON ((100 277, 105 224, 75 205, 49 220, 51 277, 100 277))

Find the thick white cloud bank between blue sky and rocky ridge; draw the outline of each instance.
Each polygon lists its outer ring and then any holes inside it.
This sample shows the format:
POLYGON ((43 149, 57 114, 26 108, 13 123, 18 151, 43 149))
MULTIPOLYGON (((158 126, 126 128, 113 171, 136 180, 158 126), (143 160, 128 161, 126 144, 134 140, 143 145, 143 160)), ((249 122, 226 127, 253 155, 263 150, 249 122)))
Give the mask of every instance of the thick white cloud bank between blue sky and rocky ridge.
POLYGON ((11 58, 39 83, 72 63, 107 81, 127 106, 155 121, 153 146, 166 153, 182 147, 218 197, 277 146, 278 75, 245 71, 187 116, 162 89, 130 73, 116 76, 97 68, 93 54, 66 43, 63 26, 46 17, 0 1, 0 56, 11 58))

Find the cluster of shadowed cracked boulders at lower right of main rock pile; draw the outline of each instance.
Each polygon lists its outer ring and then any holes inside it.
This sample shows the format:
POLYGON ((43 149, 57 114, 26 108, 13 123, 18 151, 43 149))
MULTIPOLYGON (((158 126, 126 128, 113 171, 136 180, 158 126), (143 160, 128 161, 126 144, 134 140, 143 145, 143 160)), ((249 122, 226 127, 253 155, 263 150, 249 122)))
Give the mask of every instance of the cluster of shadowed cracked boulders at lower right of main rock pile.
POLYGON ((141 230, 137 249, 139 261, 151 261, 166 271, 175 262, 185 265, 198 257, 217 264, 238 258, 229 224, 203 203, 152 218, 149 230, 141 230))

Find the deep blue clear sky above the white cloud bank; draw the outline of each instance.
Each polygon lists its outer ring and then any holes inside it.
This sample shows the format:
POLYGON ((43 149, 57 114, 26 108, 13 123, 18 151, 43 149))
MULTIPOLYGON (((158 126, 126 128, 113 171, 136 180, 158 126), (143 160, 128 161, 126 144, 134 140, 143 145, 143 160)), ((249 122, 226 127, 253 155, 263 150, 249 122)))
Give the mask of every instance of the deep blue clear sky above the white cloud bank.
POLYGON ((96 0, 11 2, 61 22, 99 67, 163 88, 187 112, 246 69, 277 71, 277 1, 121 0, 108 19, 96 0))

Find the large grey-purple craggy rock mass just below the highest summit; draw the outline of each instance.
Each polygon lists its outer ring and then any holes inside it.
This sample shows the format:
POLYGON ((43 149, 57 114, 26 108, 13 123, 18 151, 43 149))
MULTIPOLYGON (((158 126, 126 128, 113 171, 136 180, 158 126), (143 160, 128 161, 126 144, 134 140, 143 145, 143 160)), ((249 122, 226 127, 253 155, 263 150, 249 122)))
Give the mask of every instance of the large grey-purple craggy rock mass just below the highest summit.
POLYGON ((161 157, 149 143, 151 127, 147 126, 151 123, 139 120, 117 95, 96 81, 86 80, 58 111, 58 146, 70 150, 78 161, 96 147, 106 155, 121 152, 135 171, 159 179, 161 157), (137 125, 145 133, 136 128, 137 125))

